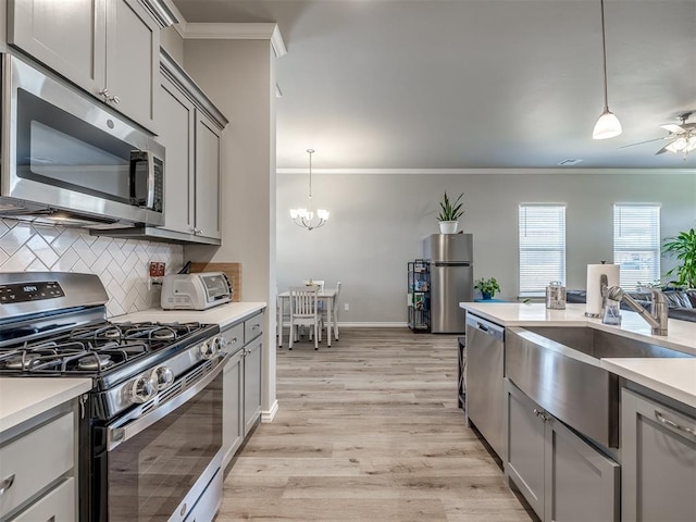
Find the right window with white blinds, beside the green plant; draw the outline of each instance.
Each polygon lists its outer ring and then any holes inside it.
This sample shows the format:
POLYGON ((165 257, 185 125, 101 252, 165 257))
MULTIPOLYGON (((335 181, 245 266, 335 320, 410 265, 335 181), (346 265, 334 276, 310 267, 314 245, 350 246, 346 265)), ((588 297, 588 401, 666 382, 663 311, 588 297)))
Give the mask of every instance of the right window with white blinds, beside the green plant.
POLYGON ((638 283, 660 278, 660 208, 613 206, 613 262, 621 265, 620 285, 633 291, 638 283))

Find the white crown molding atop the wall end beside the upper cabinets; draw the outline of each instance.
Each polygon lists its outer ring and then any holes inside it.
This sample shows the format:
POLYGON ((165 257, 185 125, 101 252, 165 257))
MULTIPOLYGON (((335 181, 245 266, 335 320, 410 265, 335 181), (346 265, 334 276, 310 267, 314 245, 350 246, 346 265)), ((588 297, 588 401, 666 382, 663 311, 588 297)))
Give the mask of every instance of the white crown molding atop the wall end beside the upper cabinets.
POLYGON ((192 23, 184 29, 185 39, 197 40, 270 40, 276 57, 287 53, 278 24, 192 23))

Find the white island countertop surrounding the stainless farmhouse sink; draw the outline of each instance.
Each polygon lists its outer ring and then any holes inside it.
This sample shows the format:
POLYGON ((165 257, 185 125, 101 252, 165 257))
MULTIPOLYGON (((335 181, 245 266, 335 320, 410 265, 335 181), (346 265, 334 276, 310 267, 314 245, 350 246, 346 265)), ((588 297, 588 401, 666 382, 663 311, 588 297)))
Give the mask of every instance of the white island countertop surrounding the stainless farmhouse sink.
MULTIPOLYGON (((668 320, 668 335, 652 335, 635 312, 621 310, 621 326, 585 316, 585 304, 547 310, 542 302, 460 302, 459 306, 502 326, 589 326, 696 356, 696 323, 668 320)), ((696 407, 696 357, 686 359, 601 359, 600 365, 624 378, 696 407)))

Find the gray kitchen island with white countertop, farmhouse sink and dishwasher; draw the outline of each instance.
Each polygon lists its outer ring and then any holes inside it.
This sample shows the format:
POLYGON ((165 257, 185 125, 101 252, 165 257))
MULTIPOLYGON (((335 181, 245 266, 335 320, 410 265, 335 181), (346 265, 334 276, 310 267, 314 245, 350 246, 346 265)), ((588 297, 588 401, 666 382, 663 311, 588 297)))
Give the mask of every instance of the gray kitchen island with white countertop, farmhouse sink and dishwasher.
POLYGON ((696 520, 696 324, 661 336, 585 304, 460 307, 467 418, 542 521, 696 520))

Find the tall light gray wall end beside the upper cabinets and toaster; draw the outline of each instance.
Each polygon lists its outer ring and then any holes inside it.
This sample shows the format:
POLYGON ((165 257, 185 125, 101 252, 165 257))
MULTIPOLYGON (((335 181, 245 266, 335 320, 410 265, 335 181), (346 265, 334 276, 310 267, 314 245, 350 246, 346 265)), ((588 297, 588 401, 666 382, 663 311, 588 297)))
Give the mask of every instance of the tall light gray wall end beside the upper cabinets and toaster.
MULTIPOLYGON (((222 135, 222 246, 187 260, 241 263, 241 298, 275 302, 275 73, 270 40, 184 42, 184 67, 231 121, 222 135)), ((263 414, 275 400, 275 307, 266 314, 263 414)))

